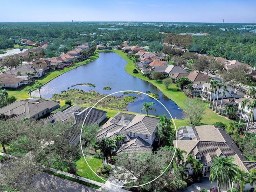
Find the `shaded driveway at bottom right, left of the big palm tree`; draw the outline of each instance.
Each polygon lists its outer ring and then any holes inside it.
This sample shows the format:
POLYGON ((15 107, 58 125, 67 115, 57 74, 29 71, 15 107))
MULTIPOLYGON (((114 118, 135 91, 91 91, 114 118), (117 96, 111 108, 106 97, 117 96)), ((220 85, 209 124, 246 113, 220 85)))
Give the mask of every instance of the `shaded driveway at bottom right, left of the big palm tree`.
POLYGON ((209 178, 203 178, 200 182, 187 187, 183 192, 199 192, 202 189, 207 189, 207 191, 210 192, 211 186, 217 186, 217 182, 214 181, 211 184, 209 178))

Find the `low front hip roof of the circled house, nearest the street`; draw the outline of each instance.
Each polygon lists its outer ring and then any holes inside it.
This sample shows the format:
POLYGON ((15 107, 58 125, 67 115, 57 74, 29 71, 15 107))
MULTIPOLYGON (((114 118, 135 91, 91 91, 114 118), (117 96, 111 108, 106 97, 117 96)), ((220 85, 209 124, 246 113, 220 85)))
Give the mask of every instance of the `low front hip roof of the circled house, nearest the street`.
POLYGON ((141 152, 151 152, 153 147, 150 147, 150 144, 144 141, 140 137, 132 138, 129 142, 122 144, 119 150, 116 152, 117 155, 122 153, 132 154, 141 153, 141 152))

